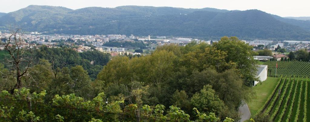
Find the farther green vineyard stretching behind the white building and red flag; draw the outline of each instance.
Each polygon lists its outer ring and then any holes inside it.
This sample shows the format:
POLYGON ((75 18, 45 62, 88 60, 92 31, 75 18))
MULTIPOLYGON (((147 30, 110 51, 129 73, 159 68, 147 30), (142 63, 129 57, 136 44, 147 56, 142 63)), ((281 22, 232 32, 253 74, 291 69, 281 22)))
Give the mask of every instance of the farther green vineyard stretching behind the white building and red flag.
MULTIPOLYGON (((268 65, 268 76, 276 75, 277 61, 268 61, 263 65, 268 65)), ((281 75, 293 75, 299 77, 310 77, 310 63, 302 61, 278 61, 277 77, 281 75)))

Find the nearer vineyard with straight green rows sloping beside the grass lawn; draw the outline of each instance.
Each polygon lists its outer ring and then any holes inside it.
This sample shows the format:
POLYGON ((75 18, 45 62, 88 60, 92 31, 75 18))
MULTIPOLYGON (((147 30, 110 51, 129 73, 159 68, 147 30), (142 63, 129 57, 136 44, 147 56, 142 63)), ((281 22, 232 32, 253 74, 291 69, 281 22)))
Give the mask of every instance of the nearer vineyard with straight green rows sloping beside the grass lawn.
POLYGON ((281 76, 272 94, 254 116, 268 115, 270 121, 276 122, 310 121, 309 85, 308 78, 281 76))

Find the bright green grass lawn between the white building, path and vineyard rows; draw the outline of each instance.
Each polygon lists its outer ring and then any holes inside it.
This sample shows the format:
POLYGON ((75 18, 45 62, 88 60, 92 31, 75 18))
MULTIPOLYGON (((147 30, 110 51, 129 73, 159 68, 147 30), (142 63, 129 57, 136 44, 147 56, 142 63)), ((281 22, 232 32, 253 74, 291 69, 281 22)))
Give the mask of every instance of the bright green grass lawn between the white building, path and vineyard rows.
POLYGON ((262 107, 266 102, 268 96, 271 94, 274 87, 276 87, 279 78, 267 77, 267 80, 263 81, 262 84, 258 83, 252 89, 256 92, 256 96, 251 102, 247 103, 250 109, 251 115, 254 115, 256 111, 262 107))

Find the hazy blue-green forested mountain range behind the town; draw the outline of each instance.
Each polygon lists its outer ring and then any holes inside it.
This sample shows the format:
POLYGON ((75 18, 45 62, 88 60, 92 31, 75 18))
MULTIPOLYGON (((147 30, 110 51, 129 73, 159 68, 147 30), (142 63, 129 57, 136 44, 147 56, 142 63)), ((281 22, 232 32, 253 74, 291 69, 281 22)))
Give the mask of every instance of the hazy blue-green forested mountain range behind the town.
POLYGON ((115 8, 30 5, 0 14, 0 29, 20 25, 27 31, 64 34, 135 34, 218 39, 310 40, 310 21, 282 18, 259 10, 121 6, 115 8))

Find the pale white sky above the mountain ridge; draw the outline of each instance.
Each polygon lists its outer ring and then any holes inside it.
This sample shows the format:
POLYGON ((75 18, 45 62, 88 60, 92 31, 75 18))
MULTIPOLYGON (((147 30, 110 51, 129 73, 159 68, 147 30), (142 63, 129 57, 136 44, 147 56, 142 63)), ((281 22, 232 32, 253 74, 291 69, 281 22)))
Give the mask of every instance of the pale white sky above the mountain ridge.
POLYGON ((217 8, 227 10, 258 9, 285 16, 310 16, 310 0, 1 0, 0 12, 12 12, 29 5, 62 6, 70 9, 84 7, 118 7, 125 5, 217 8))

